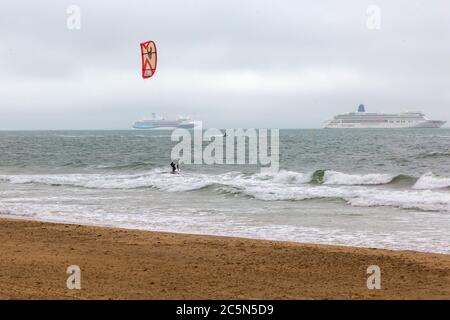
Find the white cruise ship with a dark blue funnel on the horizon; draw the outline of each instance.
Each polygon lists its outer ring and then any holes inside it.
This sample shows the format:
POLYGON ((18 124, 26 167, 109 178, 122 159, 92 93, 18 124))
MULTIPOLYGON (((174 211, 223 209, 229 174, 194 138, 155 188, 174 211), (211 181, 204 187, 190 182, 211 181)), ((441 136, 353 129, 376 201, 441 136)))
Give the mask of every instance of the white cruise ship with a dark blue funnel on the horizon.
POLYGON ((358 112, 338 114, 325 122, 325 128, 440 128, 446 121, 430 120, 420 112, 371 113, 364 105, 358 112))

